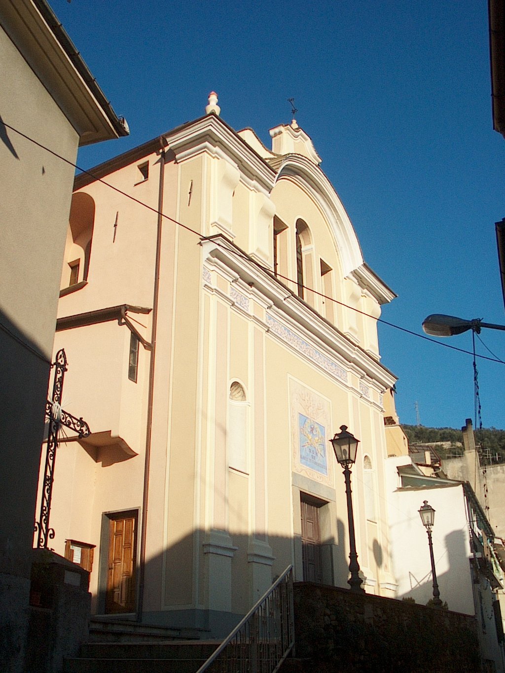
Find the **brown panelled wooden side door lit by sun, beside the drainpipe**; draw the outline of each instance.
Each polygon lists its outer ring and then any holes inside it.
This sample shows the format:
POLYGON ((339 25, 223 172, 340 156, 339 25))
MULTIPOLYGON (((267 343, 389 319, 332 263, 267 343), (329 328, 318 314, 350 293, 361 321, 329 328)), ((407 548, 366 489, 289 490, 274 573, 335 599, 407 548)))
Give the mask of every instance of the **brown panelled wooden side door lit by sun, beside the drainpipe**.
POLYGON ((137 513, 121 512, 110 518, 105 611, 135 612, 135 557, 137 513))

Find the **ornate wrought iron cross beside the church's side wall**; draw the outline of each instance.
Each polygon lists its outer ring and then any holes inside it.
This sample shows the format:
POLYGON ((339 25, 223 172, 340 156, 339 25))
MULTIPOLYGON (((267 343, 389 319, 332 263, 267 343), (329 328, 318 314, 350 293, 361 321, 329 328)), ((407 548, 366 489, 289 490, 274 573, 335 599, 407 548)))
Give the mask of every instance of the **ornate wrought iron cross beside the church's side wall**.
POLYGON ((49 418, 49 433, 47 437, 46 466, 44 468, 44 481, 42 482, 42 496, 40 497, 40 515, 35 522, 35 531, 38 531, 38 548, 47 548, 48 540, 53 540, 55 531, 49 528, 49 514, 51 497, 53 495, 53 482, 55 474, 56 449, 58 446, 58 433, 62 425, 75 431, 81 437, 88 437, 90 427, 82 418, 76 418, 67 411, 61 409, 61 394, 63 392, 63 378, 67 371, 67 356, 62 348, 56 354, 53 363, 55 367, 55 380, 53 381, 53 399, 46 401, 46 416, 49 418))

